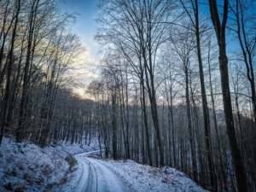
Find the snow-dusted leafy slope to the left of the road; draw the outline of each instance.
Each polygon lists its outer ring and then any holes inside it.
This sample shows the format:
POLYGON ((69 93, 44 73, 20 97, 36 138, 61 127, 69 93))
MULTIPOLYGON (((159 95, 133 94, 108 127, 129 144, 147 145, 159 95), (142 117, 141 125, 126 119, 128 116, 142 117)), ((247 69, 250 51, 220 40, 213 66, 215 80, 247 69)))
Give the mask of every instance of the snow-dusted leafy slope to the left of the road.
POLYGON ((81 169, 70 166, 67 156, 93 150, 82 145, 50 145, 39 148, 32 143, 9 143, 3 137, 0 147, 0 191, 73 191, 81 169))

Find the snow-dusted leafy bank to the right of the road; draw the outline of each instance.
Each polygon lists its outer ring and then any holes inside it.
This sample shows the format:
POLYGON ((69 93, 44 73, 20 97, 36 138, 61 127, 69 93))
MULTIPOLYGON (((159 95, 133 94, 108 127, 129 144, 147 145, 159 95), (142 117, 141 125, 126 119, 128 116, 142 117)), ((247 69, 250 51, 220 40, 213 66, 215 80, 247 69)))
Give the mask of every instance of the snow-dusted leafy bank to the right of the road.
POLYGON ((156 168, 137 164, 132 160, 101 160, 128 183, 131 190, 146 192, 206 192, 183 172, 171 167, 156 168))

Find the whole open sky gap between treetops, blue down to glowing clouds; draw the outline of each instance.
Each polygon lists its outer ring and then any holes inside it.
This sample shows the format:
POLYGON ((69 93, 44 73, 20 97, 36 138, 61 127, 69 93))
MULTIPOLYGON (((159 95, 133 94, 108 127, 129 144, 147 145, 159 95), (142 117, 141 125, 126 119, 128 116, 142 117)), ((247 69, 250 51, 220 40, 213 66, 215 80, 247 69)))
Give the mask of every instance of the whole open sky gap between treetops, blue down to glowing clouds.
MULTIPOLYGON (((86 51, 82 56, 84 63, 95 65, 97 62, 97 51, 99 46, 94 41, 96 31, 96 3, 98 0, 65 0, 60 3, 61 12, 73 14, 76 13, 76 24, 72 26, 72 32, 77 34, 84 45, 86 51)), ((92 79, 96 78, 95 69, 87 66, 76 72, 80 73, 80 79, 84 84, 89 84, 92 79), (94 71, 94 72, 92 72, 94 71)), ((73 89, 80 96, 84 96, 84 87, 73 89)))

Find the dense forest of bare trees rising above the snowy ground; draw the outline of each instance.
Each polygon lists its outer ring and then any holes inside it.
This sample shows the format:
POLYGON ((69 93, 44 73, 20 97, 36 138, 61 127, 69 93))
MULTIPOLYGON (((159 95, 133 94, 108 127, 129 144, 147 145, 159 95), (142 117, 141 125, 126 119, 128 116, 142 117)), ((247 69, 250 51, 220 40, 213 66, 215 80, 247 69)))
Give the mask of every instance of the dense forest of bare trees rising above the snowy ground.
POLYGON ((256 2, 99 0, 96 11, 89 100, 72 90, 75 15, 54 0, 0 0, 0 144, 96 137, 104 157, 256 191, 256 2))

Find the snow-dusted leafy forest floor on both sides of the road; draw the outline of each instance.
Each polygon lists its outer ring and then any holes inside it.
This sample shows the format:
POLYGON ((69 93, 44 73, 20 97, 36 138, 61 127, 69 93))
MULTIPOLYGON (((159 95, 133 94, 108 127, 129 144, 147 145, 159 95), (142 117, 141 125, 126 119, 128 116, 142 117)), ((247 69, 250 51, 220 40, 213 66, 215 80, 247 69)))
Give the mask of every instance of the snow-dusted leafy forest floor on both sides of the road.
MULTIPOLYGON (((32 143, 9 142, 9 138, 4 137, 0 147, 0 191, 74 191, 82 169, 71 154, 96 149, 96 143, 39 148, 32 143)), ((206 191, 171 167, 93 158, 121 177, 131 191, 206 191)))

